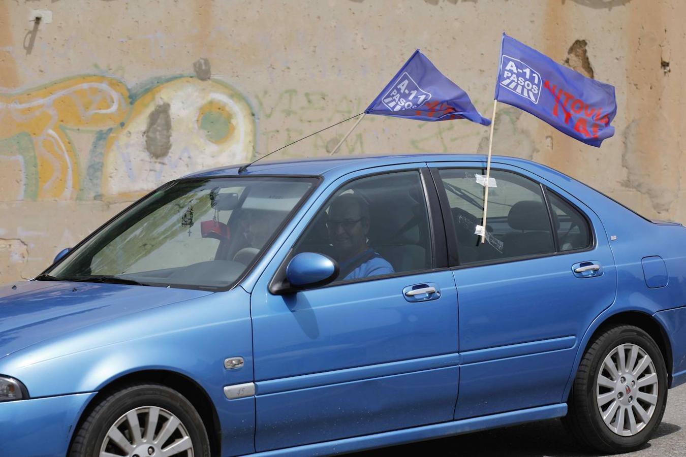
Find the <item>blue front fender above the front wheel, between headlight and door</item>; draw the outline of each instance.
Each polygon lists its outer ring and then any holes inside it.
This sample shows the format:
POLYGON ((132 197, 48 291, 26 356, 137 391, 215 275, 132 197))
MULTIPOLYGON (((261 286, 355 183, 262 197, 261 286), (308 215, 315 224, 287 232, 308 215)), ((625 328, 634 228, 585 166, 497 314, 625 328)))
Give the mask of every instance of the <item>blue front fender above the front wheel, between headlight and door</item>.
MULTIPOLYGON (((32 397, 96 393, 137 371, 178 373, 215 406, 222 449, 231 452, 224 455, 248 454, 255 450, 255 397, 227 399, 223 389, 253 379, 249 299, 235 288, 92 325, 0 359, 0 373, 13 373, 32 397), (244 366, 224 368, 231 356, 243 357, 244 366)), ((0 415, 12 404, 0 403, 0 415)))

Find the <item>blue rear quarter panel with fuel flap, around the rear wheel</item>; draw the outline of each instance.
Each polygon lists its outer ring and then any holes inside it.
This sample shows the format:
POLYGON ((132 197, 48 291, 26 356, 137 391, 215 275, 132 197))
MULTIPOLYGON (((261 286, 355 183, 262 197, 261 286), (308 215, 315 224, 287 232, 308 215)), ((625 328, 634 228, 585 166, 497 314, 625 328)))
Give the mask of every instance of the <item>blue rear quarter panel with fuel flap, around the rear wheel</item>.
MULTIPOLYGON (((514 158, 507 158, 505 161, 536 173, 559 188, 564 188, 567 194, 587 203, 602 219, 610 239, 617 266, 617 297, 613 305, 589 325, 584 338, 580 341, 573 373, 576 373, 576 367, 593 332, 613 316, 624 312, 640 312, 646 315, 646 319, 651 319, 659 311, 686 306, 686 227, 677 223, 652 223, 596 190, 541 164, 514 158), (649 288, 646 284, 641 260, 651 256, 659 256, 665 262, 668 279, 664 287, 649 288)), ((672 351, 674 361, 672 367, 667 367, 671 387, 686 382, 686 377, 682 373, 685 366, 681 365, 686 356, 686 346, 683 344, 682 334, 670 330, 681 328, 680 325, 667 325, 664 320, 669 315, 670 319, 680 322, 680 314, 681 312, 660 314, 661 319, 655 316, 670 342, 669 350, 672 351)), ((570 375, 565 388, 565 398, 571 390, 572 381, 573 375, 570 375)))

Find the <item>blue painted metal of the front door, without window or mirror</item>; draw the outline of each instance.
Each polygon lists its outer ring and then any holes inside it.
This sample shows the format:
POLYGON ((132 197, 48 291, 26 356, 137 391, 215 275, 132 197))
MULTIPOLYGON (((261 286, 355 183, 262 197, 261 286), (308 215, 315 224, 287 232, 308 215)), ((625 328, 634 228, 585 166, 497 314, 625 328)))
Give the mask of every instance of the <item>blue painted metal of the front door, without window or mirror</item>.
POLYGON ((287 295, 268 291, 333 190, 375 173, 419 176, 425 167, 381 166, 339 177, 308 205, 259 277, 252 289, 258 451, 453 419, 458 310, 447 268, 287 295), (429 282, 440 298, 412 303, 403 297, 407 286, 429 282))

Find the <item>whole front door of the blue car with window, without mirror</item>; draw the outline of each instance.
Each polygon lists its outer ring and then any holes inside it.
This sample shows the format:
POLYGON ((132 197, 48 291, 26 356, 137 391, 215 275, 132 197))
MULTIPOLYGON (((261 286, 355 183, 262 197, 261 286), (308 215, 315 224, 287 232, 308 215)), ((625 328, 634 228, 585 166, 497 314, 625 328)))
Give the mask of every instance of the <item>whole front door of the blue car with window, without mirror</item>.
POLYGON ((456 288, 436 255, 445 234, 427 203, 435 188, 417 167, 335 183, 256 284, 258 452, 453 419, 456 288), (270 293, 283 264, 304 251, 335 258, 338 279, 270 293))

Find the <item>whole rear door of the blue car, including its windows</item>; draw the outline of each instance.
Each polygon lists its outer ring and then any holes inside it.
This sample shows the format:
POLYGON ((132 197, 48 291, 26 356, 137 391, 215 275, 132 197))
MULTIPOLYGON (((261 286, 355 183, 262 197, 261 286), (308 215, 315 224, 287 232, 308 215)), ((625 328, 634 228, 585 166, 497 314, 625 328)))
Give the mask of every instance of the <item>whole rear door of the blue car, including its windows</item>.
POLYGON ((456 419, 556 404, 578 342, 615 298, 602 223, 581 201, 518 167, 493 164, 480 244, 480 164, 430 164, 447 223, 460 315, 456 419))

